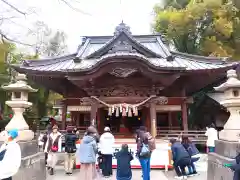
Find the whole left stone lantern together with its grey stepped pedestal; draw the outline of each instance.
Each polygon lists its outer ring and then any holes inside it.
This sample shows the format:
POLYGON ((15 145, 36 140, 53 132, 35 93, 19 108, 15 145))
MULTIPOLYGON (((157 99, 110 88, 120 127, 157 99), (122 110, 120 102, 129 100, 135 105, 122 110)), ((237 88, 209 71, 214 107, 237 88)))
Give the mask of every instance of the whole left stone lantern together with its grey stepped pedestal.
MULTIPOLYGON (((39 152, 37 147, 37 140, 33 140, 34 133, 29 130, 23 112, 30 107, 32 103, 28 102, 28 92, 36 92, 26 82, 24 74, 17 74, 16 83, 3 86, 2 88, 12 92, 12 99, 6 104, 13 109, 14 116, 5 127, 6 130, 17 129, 19 136, 17 138, 18 144, 21 148, 22 162, 13 180, 45 180, 46 179, 46 165, 43 152, 39 152)), ((1 140, 0 140, 1 141, 1 140)), ((0 145, 3 142, 0 142, 0 145)))

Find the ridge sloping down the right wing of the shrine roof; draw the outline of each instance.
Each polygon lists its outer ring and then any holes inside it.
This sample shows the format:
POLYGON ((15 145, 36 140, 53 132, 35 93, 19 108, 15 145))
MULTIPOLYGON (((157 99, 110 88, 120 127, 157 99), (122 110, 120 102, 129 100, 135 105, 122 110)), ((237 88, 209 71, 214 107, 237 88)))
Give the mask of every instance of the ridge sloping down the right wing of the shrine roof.
POLYGON ((185 57, 190 61, 198 61, 204 62, 207 64, 231 64, 232 62, 228 63, 227 60, 230 59, 229 57, 215 57, 215 56, 201 56, 195 54, 187 54, 179 51, 170 51, 173 56, 180 56, 185 57))

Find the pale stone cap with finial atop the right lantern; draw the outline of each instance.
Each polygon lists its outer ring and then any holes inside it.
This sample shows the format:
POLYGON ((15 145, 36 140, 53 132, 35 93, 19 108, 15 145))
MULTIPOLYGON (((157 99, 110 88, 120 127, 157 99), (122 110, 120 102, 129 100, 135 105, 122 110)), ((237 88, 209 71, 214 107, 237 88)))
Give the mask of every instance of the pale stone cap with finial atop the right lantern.
POLYGON ((214 87, 216 91, 225 91, 230 88, 240 88, 240 81, 238 80, 236 70, 228 70, 227 71, 228 80, 221 84, 218 87, 214 87))

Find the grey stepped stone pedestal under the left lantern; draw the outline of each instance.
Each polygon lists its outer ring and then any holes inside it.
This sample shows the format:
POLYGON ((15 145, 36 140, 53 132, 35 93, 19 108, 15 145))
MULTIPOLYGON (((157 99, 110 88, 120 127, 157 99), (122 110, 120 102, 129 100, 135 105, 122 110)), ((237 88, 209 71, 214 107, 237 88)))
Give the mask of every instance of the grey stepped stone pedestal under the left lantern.
POLYGON ((38 152, 37 140, 18 143, 21 147, 22 163, 13 180, 46 180, 45 156, 43 152, 38 152))

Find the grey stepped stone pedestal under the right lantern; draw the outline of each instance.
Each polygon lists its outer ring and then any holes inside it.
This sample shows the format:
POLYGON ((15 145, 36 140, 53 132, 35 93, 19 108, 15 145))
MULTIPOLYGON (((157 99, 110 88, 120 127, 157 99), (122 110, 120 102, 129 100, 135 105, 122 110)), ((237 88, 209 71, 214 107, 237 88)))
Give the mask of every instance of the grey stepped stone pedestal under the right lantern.
POLYGON ((208 154, 208 180, 231 180, 233 172, 224 167, 225 163, 235 162, 235 157, 240 152, 240 143, 224 140, 215 142, 215 153, 208 154))

